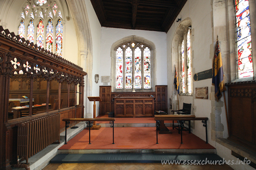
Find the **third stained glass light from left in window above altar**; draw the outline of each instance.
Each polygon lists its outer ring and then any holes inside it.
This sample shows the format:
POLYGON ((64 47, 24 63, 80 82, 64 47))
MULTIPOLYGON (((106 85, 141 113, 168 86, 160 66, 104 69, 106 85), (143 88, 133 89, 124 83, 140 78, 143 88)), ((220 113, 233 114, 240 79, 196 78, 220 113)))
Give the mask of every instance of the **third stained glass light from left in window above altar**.
POLYGON ((134 88, 141 89, 141 49, 134 50, 134 88))

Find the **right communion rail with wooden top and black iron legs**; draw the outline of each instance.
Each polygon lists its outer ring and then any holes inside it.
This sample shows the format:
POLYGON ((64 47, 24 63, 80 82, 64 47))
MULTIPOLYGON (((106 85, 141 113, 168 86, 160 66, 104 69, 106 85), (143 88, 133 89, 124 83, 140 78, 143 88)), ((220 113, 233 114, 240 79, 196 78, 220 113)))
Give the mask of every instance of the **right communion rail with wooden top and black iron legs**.
POLYGON ((157 128, 160 127, 160 121, 164 120, 171 120, 171 121, 177 121, 178 126, 180 128, 180 137, 181 137, 181 144, 182 143, 182 130, 184 128, 184 122, 185 121, 196 121, 200 120, 203 123, 203 126, 205 127, 205 135, 206 135, 206 144, 208 144, 207 139, 207 120, 208 117, 196 117, 195 115, 155 115, 155 121, 156 121, 156 144, 158 144, 158 138, 157 138, 157 128))

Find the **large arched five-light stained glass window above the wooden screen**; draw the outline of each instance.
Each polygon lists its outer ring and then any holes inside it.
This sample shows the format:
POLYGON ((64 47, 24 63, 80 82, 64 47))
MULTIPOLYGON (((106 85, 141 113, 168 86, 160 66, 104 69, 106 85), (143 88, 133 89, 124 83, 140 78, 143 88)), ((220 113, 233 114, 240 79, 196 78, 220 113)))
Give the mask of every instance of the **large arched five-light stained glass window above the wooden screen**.
POLYGON ((62 6, 59 6, 54 0, 25 1, 21 7, 20 18, 22 20, 19 20, 17 26, 18 34, 20 37, 26 37, 29 42, 33 42, 37 46, 62 57, 62 6), (36 25, 34 25, 34 22, 36 22, 36 25), (26 25, 25 23, 29 24, 26 25), (44 26, 46 26, 46 29, 44 26))

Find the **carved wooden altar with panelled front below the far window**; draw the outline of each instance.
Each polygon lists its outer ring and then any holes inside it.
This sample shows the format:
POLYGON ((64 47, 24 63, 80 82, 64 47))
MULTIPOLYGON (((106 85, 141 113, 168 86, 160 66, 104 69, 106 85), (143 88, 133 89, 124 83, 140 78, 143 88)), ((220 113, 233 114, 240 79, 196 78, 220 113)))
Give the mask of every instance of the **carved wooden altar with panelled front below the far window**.
POLYGON ((115 117, 154 116, 155 97, 114 97, 115 117))

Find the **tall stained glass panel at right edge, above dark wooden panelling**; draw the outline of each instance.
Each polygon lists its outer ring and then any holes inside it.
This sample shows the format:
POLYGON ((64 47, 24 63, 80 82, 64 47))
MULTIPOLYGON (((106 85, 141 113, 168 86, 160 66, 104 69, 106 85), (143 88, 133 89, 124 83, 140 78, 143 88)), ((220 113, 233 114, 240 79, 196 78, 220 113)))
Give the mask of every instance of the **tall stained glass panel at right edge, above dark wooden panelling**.
POLYGON ((248 0, 235 0, 238 78, 252 77, 252 37, 248 0))

